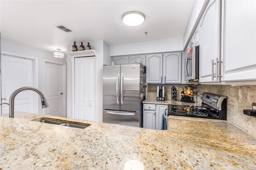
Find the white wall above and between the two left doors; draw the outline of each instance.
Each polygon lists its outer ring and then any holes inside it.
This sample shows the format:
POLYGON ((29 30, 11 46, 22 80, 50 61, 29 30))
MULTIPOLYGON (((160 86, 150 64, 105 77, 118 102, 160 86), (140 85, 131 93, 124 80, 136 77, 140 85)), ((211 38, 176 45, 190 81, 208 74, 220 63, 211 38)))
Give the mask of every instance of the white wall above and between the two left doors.
MULTIPOLYGON (((7 51, 10 53, 16 53, 20 55, 27 55, 30 57, 38 58, 38 89, 44 93, 44 59, 51 60, 51 61, 58 61, 62 63, 66 63, 66 58, 60 59, 53 57, 53 53, 49 51, 44 51, 42 49, 38 49, 35 47, 31 47, 28 45, 24 45, 22 43, 14 42, 11 40, 7 40, 1 38, 1 51, 7 51)), ((41 107, 41 100, 38 97, 38 113, 43 113, 43 109, 41 107)))

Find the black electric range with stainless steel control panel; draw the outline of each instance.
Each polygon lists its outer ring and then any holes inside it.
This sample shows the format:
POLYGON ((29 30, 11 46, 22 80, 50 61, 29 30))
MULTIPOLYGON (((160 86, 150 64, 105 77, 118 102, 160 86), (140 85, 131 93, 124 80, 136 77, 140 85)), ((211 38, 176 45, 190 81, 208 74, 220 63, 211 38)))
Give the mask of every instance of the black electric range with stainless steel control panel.
POLYGON ((213 93, 202 93, 202 106, 169 105, 168 115, 227 120, 227 97, 213 93))

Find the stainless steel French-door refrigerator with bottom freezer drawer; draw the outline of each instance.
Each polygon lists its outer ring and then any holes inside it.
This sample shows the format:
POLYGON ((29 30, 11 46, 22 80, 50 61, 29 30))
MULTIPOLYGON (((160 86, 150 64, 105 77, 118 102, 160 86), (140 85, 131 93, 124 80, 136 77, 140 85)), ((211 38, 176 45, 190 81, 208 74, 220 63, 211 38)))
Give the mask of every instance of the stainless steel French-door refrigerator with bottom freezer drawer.
POLYGON ((142 127, 144 67, 103 66, 103 122, 142 127))

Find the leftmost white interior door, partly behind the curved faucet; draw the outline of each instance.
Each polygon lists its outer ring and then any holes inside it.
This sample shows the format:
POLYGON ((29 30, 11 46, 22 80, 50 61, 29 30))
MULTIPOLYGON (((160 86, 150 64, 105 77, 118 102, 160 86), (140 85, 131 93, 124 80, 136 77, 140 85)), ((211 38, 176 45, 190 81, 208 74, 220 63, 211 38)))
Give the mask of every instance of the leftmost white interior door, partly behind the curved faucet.
MULTIPOLYGON (((1 55, 1 103, 9 103, 10 95, 21 88, 34 87, 34 61, 14 55, 1 55)), ((33 91, 26 90, 15 97, 14 111, 38 113, 38 100, 33 91)), ((2 114, 9 113, 9 106, 2 105, 2 114)))

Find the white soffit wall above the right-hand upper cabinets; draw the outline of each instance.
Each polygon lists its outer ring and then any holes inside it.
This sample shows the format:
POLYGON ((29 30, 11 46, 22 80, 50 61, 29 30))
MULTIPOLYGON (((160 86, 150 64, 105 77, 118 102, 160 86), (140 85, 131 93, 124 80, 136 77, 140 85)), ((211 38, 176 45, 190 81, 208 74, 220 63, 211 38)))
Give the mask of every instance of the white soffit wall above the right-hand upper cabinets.
POLYGON ((196 30, 196 26, 198 25, 202 15, 204 14, 204 10, 206 9, 206 6, 208 5, 208 3, 209 3, 209 0, 195 0, 189 20, 188 20, 188 24, 186 26, 186 30, 183 35, 184 50, 188 45, 188 40, 192 38, 192 35, 196 30))

